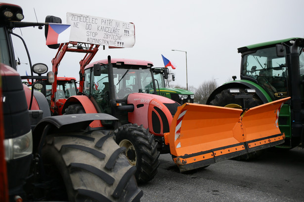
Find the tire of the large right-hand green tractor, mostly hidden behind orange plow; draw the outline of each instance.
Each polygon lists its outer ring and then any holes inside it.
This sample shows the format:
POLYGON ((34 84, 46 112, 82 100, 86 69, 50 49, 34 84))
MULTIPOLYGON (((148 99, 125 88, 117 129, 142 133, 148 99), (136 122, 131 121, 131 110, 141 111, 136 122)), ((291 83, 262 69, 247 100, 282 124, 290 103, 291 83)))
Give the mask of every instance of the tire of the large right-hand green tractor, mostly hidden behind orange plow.
MULTIPOLYGON (((240 89, 240 95, 245 95, 245 89, 240 89)), ((254 95, 252 98, 245 99, 245 107, 246 108, 251 108, 254 106, 259 106, 263 104, 261 99, 257 96, 254 95)), ((235 99, 232 94, 229 93, 228 89, 225 89, 218 93, 215 98, 210 101, 210 105, 215 105, 215 106, 225 106, 225 107, 232 107, 232 108, 244 108, 244 103, 242 99, 235 99)), ((233 158, 234 160, 237 161, 244 161, 244 160, 251 160, 251 159, 256 159, 263 153, 263 150, 259 151, 254 151, 249 154, 245 154, 239 157, 233 158)))

